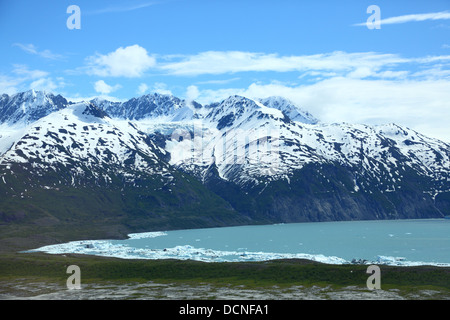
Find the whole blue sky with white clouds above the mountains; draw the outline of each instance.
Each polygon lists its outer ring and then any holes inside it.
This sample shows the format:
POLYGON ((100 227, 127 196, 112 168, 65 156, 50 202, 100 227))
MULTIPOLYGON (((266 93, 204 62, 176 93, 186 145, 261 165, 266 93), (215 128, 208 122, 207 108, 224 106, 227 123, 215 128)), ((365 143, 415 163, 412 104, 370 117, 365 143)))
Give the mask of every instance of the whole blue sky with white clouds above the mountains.
POLYGON ((283 96, 450 142, 449 36, 450 0, 0 0, 0 94, 283 96))

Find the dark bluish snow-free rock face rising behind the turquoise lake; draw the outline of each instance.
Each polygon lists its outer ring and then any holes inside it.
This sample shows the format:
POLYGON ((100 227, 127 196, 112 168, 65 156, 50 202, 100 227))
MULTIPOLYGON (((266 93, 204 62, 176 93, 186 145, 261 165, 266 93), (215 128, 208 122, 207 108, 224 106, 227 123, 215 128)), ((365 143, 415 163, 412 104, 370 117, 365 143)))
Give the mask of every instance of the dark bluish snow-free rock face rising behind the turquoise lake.
POLYGON ((404 191, 383 192, 373 186, 356 192, 353 177, 351 168, 329 164, 312 165, 297 171, 289 182, 274 181, 245 192, 214 172, 206 185, 237 211, 271 222, 442 218, 448 212, 448 200, 433 201, 413 181, 404 182, 410 185, 404 191), (319 170, 326 178, 317 174, 319 170))

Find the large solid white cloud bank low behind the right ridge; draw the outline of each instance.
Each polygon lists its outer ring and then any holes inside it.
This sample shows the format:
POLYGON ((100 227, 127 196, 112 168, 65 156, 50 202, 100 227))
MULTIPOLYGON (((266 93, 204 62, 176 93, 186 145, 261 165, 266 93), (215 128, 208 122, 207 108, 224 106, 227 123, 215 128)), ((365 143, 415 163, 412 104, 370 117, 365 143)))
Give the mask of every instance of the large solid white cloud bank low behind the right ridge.
POLYGON ((397 123, 450 142, 450 81, 367 80, 334 77, 308 85, 256 84, 247 88, 201 90, 210 103, 238 94, 249 98, 283 96, 323 122, 397 123))

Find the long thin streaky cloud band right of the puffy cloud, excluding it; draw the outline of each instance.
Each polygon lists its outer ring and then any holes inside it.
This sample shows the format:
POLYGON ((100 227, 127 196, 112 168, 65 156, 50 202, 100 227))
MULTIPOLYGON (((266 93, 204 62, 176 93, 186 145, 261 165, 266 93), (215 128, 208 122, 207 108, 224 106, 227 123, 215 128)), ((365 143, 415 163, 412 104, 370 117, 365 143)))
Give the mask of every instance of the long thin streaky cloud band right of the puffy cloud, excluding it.
MULTIPOLYGON (((398 54, 377 52, 330 53, 280 56, 278 54, 242 51, 207 51, 195 55, 160 59, 154 69, 173 76, 202 76, 237 74, 245 72, 297 72, 298 79, 320 81, 327 78, 405 79, 411 75, 411 66, 439 67, 446 75, 450 55, 405 58, 398 54)), ((434 73, 436 74, 436 73, 434 73)), ((416 74, 418 77, 420 74, 416 74)), ((199 81, 197 84, 226 84, 229 80, 199 81)))

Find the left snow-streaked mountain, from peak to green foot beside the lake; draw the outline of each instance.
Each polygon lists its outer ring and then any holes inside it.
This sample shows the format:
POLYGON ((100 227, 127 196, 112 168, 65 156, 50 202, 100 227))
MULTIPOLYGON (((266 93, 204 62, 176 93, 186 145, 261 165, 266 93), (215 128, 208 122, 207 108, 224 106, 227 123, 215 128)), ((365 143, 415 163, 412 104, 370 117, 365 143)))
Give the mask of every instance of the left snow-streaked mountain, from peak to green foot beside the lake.
POLYGON ((12 126, 6 138, 0 137, 2 222, 149 230, 243 221, 172 167, 136 124, 90 102, 12 126))

